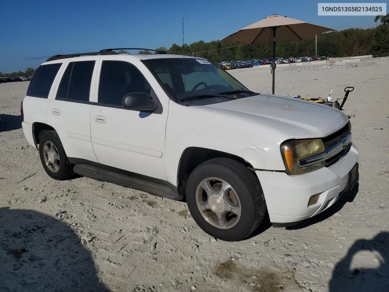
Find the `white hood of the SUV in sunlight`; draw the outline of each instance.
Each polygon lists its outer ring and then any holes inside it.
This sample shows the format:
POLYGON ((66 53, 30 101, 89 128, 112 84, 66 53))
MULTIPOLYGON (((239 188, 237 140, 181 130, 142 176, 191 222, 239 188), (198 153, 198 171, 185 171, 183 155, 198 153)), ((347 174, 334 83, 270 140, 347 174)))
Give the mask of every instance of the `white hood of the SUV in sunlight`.
POLYGON ((268 93, 196 107, 249 120, 295 139, 326 137, 349 121, 329 106, 268 93))

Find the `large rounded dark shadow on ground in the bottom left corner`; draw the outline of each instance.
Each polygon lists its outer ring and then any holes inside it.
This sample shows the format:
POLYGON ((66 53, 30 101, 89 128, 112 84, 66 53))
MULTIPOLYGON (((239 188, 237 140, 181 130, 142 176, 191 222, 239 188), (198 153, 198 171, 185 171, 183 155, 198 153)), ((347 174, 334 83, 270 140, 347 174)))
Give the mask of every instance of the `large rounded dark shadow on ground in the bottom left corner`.
POLYGON ((0 208, 0 292, 109 291, 91 253, 65 222, 0 208))

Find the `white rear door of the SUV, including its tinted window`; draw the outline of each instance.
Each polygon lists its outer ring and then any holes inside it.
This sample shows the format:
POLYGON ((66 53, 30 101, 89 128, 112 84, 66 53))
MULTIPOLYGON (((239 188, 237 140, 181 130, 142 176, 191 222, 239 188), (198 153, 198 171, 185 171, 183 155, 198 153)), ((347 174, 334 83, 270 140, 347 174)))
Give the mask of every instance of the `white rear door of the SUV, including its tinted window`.
POLYGON ((68 61, 56 84, 46 118, 47 124, 58 132, 68 157, 93 162, 98 162, 90 134, 90 97, 94 94, 96 62, 90 57, 68 61))

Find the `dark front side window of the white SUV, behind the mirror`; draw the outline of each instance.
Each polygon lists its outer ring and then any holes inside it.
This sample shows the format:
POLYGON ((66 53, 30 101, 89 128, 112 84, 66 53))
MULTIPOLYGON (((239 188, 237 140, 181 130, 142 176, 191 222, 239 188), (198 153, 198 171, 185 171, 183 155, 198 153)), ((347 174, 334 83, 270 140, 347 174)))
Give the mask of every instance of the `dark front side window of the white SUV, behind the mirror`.
POLYGON ((132 64, 122 61, 103 61, 100 73, 98 102, 122 106, 129 93, 144 92, 150 95, 151 86, 132 64))

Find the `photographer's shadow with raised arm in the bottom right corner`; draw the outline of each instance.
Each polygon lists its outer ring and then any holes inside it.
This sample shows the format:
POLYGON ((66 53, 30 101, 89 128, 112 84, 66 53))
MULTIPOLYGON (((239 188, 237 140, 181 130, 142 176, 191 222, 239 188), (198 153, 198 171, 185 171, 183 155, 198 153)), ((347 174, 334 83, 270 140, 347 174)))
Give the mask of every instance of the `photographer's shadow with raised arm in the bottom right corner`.
POLYGON ((347 255, 335 266, 329 282, 329 292, 388 292, 389 291, 389 232, 382 231, 373 239, 359 239, 347 255), (378 268, 350 269, 357 252, 378 253, 378 268))

